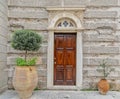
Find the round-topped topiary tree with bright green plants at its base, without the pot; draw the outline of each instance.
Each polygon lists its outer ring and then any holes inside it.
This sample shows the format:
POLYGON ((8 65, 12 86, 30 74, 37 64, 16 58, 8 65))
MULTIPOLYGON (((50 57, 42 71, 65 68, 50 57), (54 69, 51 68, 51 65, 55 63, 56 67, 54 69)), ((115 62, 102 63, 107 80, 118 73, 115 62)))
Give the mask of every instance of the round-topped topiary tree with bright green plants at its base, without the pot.
POLYGON ((16 50, 25 51, 24 59, 16 60, 18 66, 35 65, 36 58, 27 59, 28 51, 37 51, 42 43, 42 38, 39 34, 30 30, 17 30, 13 32, 12 47, 16 50))

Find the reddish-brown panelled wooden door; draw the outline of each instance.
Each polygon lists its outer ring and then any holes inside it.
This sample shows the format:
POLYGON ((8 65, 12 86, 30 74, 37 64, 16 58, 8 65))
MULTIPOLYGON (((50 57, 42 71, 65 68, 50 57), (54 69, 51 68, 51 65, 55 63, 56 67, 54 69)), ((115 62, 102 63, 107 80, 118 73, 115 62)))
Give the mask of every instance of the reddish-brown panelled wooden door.
POLYGON ((54 34, 54 85, 76 84, 76 34, 54 34))

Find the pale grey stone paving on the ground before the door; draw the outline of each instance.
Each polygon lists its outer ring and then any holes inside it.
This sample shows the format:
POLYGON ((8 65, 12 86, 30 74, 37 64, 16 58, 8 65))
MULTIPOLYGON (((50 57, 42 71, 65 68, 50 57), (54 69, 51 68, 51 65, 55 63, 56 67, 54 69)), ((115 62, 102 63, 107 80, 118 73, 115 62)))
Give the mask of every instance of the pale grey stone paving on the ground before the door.
MULTIPOLYGON (((13 90, 0 95, 0 99, 20 99, 13 90)), ((97 91, 34 91, 30 99, 120 99, 120 92, 110 91, 100 95, 97 91)))

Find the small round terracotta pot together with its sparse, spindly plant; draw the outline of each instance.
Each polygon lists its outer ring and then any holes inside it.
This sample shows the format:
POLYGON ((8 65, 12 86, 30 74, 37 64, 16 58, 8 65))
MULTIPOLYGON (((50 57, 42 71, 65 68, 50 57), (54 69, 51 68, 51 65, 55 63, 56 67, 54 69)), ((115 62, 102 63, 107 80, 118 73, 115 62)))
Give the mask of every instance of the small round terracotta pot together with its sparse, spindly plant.
POLYGON ((108 75, 114 71, 114 68, 110 68, 110 66, 107 65, 106 60, 102 60, 102 62, 99 65, 101 69, 97 69, 98 72, 102 72, 103 78, 98 82, 98 91, 102 95, 106 95, 106 93, 110 89, 109 82, 107 81, 108 75))

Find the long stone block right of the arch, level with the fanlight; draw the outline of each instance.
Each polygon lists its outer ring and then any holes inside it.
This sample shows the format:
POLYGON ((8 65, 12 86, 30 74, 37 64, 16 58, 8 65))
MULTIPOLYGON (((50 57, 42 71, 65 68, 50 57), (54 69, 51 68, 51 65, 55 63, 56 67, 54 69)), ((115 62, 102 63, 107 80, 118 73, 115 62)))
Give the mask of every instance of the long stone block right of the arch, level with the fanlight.
POLYGON ((97 29, 97 28, 111 28, 115 30, 117 28, 116 22, 86 22, 84 24, 85 29, 97 29))

